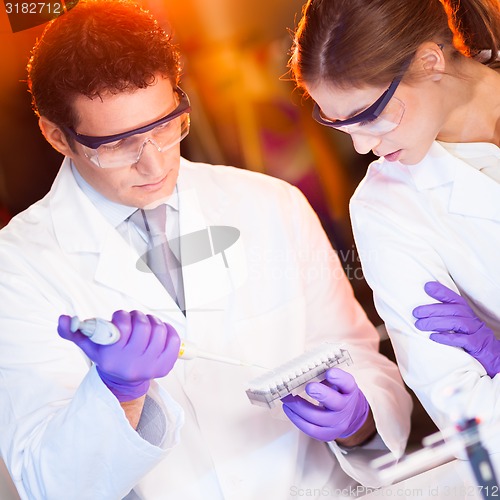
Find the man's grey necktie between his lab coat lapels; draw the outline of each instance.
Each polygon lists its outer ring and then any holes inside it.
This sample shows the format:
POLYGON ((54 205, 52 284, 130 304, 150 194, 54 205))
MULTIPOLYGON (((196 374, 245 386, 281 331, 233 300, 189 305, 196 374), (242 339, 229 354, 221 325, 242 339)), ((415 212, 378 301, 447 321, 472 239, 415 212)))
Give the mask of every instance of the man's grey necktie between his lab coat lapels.
POLYGON ((148 267, 160 280, 179 308, 184 311, 181 265, 170 248, 165 232, 166 208, 165 205, 159 205, 151 210, 137 210, 132 215, 131 220, 148 236, 146 254, 148 267))

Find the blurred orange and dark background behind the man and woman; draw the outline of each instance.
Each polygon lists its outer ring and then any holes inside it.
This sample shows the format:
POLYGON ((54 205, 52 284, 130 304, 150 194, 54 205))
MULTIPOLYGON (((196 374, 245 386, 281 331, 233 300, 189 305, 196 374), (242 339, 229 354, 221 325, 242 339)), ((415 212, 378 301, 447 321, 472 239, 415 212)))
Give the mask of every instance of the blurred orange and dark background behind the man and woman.
MULTIPOLYGON (((263 172, 301 189, 358 300, 379 325, 348 213, 349 198, 374 158, 357 155, 347 135, 314 122, 310 100, 289 79, 291 32, 303 0, 139 3, 173 32, 183 54, 181 86, 192 104, 183 155, 263 172)), ((0 227, 47 193, 62 160, 38 130, 25 82, 30 50, 43 27, 13 33, 0 3, 0 227)), ((381 350, 394 359, 389 341, 381 350)), ((410 446, 432 432, 416 402, 410 446)))

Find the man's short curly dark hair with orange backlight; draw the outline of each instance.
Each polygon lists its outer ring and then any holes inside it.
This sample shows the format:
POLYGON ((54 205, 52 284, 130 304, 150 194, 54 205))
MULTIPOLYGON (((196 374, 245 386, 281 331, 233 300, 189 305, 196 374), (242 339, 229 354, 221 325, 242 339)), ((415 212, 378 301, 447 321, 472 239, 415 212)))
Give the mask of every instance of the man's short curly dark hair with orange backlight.
POLYGON ((157 75, 177 85, 179 52, 147 11, 125 0, 80 1, 47 25, 28 63, 33 109, 59 127, 77 126, 75 96, 146 88, 157 75))

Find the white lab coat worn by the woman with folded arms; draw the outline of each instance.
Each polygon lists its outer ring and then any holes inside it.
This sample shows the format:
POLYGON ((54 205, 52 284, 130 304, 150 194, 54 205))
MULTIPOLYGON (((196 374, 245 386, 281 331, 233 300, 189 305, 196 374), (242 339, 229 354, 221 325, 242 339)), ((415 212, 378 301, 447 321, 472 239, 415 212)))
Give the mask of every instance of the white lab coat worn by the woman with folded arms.
MULTIPOLYGON (((500 184, 478 169, 486 166, 500 169, 494 144, 435 142, 417 165, 373 163, 351 200, 365 277, 401 374, 440 428, 460 416, 500 422, 500 377, 430 340, 412 315, 435 302, 424 284, 437 280, 500 336, 500 184)), ((500 441, 488 445, 498 460, 500 441)))

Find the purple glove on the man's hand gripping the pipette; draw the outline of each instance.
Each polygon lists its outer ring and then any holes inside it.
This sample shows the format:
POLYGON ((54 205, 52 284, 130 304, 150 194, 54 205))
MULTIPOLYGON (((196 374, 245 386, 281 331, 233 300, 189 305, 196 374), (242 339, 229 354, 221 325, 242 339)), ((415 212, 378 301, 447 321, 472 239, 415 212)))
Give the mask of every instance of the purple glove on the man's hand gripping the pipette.
POLYGON ((167 375, 179 354, 180 339, 174 327, 140 311, 113 314, 120 340, 111 345, 94 344, 82 333, 72 333, 70 322, 69 316, 60 316, 57 332, 96 364, 101 380, 120 402, 146 394, 150 381, 167 375))

